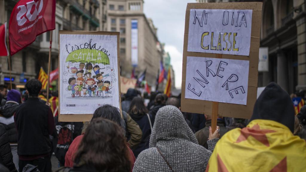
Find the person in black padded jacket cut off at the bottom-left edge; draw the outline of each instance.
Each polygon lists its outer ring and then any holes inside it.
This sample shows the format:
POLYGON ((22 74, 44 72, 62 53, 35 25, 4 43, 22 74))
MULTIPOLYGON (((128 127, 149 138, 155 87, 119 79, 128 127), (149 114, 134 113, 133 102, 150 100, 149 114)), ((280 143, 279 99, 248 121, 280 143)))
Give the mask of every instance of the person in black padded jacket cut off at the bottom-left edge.
POLYGON ((3 125, 0 124, 0 164, 6 166, 9 171, 17 172, 13 163, 13 155, 9 146, 9 137, 3 125))

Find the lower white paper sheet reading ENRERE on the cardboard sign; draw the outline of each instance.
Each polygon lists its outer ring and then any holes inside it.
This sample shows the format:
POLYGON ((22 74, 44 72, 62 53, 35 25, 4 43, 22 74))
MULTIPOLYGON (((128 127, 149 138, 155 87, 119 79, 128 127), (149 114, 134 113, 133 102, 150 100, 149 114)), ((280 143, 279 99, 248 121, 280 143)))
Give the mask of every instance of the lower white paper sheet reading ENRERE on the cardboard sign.
POLYGON ((188 57, 185 98, 247 104, 249 61, 188 57))

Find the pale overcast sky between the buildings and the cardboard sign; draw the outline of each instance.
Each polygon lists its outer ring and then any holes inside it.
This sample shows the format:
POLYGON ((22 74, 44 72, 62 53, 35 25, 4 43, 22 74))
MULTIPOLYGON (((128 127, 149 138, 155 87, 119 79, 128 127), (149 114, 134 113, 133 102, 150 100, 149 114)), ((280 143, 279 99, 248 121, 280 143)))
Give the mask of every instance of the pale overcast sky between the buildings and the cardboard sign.
POLYGON ((153 19, 158 39, 166 44, 165 50, 171 56, 176 88, 181 88, 182 83, 185 13, 189 2, 196 0, 144 0, 144 13, 153 19))

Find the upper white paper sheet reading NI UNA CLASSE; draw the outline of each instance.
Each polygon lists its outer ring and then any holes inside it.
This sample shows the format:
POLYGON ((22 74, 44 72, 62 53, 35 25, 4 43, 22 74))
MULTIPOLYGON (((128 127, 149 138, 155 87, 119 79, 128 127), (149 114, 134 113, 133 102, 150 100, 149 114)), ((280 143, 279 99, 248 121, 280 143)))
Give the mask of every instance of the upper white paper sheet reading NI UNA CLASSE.
POLYGON ((251 44, 252 10, 190 9, 190 52, 248 56, 251 44))

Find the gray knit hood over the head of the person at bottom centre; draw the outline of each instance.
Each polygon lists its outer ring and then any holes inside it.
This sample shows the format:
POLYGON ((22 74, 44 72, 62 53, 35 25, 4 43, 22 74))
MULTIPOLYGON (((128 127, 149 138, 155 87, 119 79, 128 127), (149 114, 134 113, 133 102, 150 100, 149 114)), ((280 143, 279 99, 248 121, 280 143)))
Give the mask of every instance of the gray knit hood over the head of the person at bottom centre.
POLYGON ((186 140, 198 144, 181 111, 168 105, 159 109, 150 138, 150 148, 162 140, 186 140))

